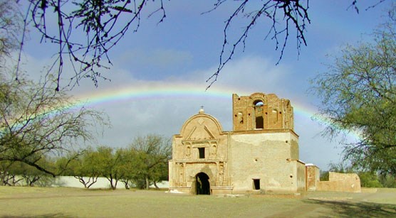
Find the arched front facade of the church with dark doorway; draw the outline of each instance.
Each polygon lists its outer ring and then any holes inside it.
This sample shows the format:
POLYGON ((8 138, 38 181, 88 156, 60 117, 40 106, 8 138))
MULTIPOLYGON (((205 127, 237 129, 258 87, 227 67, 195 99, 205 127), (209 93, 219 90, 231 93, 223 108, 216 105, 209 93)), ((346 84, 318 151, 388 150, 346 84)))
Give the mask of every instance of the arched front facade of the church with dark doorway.
POLYGON ((227 138, 219 121, 203 110, 190 117, 172 140, 170 190, 195 194, 196 176, 205 173, 213 192, 230 193, 227 138))

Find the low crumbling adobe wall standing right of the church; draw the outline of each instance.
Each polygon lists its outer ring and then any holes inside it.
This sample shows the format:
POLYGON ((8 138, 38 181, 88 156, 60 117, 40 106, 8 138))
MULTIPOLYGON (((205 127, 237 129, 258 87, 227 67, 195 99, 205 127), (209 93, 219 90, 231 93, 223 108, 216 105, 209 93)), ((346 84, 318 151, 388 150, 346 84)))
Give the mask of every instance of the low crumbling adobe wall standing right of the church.
POLYGON ((360 178, 356 173, 329 172, 328 181, 320 181, 317 191, 361 192, 360 178))

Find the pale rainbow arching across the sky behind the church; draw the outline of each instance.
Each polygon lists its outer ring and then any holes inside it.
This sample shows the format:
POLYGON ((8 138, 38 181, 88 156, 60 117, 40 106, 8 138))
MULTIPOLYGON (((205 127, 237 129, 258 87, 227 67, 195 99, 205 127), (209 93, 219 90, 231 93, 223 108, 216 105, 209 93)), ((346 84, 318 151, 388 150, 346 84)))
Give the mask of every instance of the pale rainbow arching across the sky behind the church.
MULTIPOLYGON (((222 87, 220 85, 214 85, 208 90, 205 90, 206 86, 199 86, 193 83, 149 83, 145 85, 132 85, 130 87, 118 87, 103 89, 99 88, 96 92, 86 92, 78 94, 75 97, 79 100, 79 103, 75 104, 75 107, 82 105, 95 106, 101 104, 113 104, 118 102, 130 102, 130 101, 142 101, 142 100, 155 100, 155 99, 167 99, 169 97, 177 97, 178 99, 199 99, 204 104, 208 99, 217 99, 230 101, 233 93, 241 95, 249 95, 253 93, 248 89, 235 89, 231 87, 222 87), (99 91, 99 92, 98 92, 99 91)), ((318 113, 318 110, 307 104, 301 102, 293 102, 291 104, 294 109, 296 119, 311 120, 314 115, 318 113)), ((317 116, 318 121, 321 124, 328 125, 328 121, 323 116, 317 116)), ((347 133, 347 132, 345 132, 347 133)), ((355 132, 348 132, 348 136, 353 139, 359 139, 360 136, 355 132)))

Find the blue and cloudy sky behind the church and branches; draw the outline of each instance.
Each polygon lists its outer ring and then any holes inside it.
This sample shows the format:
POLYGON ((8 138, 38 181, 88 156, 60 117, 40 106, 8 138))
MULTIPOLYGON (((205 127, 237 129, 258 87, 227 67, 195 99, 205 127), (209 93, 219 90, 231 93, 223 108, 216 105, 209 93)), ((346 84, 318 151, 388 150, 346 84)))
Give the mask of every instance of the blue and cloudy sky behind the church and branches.
MULTIPOLYGON (((281 62, 275 42, 266 39, 269 26, 257 23, 249 33, 244 52, 238 50, 224 67, 217 82, 205 91, 206 80, 217 69, 222 50, 224 21, 237 2, 230 1, 212 9, 216 1, 164 1, 167 17, 157 23, 159 15, 143 14, 137 32, 129 31, 110 51, 113 62, 103 70, 109 80, 100 80, 98 87, 90 80, 80 81, 70 94, 108 114, 112 126, 98 134, 97 145, 126 147, 136 136, 157 133, 171 137, 179 133, 184 121, 204 111, 217 118, 224 131, 232 129, 233 93, 274 93, 290 99, 294 108, 295 129, 299 136, 300 159, 325 170, 330 162, 342 160, 342 146, 337 140, 322 136, 325 124, 313 120, 319 99, 308 92, 309 80, 325 72, 347 45, 370 41, 370 33, 386 15, 391 1, 368 9, 371 0, 359 0, 359 13, 350 1, 309 1, 311 24, 307 26, 308 45, 296 50, 296 39, 290 37, 281 62)), ((147 5, 148 11, 152 2, 147 5)), ((254 1, 259 4, 261 1, 254 1)), ((254 6, 252 6, 254 8, 254 6)), ((154 9, 154 7, 152 8, 154 9)), ((244 18, 233 23, 231 38, 239 36, 244 18)), ((293 33, 292 33, 293 34, 293 33)), ((292 35, 291 35, 292 36, 292 35)), ((32 28, 24 47, 24 67, 37 75, 51 65, 56 45, 40 43, 32 28), (45 51, 45 52, 43 52, 45 51)), ((70 68, 66 67, 66 71, 70 68)), ((67 78, 65 73, 65 80, 67 78)), ((352 134, 348 139, 353 141, 352 134)))

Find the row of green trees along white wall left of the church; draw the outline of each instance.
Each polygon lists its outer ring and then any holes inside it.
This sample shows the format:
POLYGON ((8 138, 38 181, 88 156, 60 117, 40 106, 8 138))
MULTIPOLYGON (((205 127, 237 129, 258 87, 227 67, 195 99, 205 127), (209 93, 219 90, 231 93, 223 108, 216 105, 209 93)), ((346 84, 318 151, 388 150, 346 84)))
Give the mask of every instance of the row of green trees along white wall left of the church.
MULTIPOLYGON (((119 182, 126 189, 131 186, 148 189, 168 179, 171 146, 167 138, 147 135, 135 138, 127 148, 99 146, 61 158, 43 156, 40 161, 57 175, 73 176, 85 188, 103 177, 113 190, 119 182)), ((53 181, 52 175, 20 161, 1 161, 0 178, 1 185, 46 186, 53 181)))

